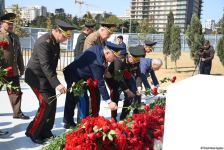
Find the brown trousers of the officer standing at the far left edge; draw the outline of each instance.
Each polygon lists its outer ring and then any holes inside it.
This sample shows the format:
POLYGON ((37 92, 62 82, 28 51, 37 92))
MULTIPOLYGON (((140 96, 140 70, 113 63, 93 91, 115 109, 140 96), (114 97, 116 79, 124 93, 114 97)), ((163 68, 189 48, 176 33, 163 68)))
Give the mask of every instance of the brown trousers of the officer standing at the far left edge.
MULTIPOLYGON (((7 88, 7 93, 13 110, 13 117, 17 117, 22 113, 21 111, 22 92, 19 83, 19 76, 7 77, 5 78, 5 80, 7 82, 11 82, 13 87, 17 87, 16 90, 7 88)), ((2 87, 0 87, 0 90, 1 89, 2 87)))

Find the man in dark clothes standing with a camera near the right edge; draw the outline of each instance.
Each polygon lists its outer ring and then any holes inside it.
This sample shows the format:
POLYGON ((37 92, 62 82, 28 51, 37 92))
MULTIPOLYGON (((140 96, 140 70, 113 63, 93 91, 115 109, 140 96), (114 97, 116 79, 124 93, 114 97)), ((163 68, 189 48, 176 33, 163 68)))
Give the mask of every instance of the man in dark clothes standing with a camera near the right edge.
POLYGON ((212 68, 212 59, 214 58, 215 50, 210 42, 206 40, 203 48, 199 51, 200 56, 200 74, 210 75, 212 68))

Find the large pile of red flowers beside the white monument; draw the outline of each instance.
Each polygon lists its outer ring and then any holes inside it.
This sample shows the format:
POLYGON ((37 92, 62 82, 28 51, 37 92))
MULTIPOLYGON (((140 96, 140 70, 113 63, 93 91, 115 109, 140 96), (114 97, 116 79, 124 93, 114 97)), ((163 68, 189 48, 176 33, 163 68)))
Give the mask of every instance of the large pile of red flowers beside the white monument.
POLYGON ((102 116, 87 117, 77 129, 56 138, 43 149, 152 150, 154 140, 163 138, 164 116, 165 99, 161 99, 145 105, 139 114, 134 114, 123 122, 108 120, 102 116))

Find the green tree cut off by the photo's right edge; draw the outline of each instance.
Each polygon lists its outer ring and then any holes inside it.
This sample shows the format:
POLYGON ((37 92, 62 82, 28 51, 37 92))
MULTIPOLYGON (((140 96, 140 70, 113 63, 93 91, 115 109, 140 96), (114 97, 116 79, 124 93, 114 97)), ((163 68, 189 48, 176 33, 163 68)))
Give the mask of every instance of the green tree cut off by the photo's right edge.
MULTIPOLYGON (((223 14, 223 18, 224 18, 224 14, 223 14)), ((224 21, 222 21, 222 24, 220 26, 221 26, 222 37, 220 38, 217 44, 217 55, 222 65, 224 66, 224 21)))

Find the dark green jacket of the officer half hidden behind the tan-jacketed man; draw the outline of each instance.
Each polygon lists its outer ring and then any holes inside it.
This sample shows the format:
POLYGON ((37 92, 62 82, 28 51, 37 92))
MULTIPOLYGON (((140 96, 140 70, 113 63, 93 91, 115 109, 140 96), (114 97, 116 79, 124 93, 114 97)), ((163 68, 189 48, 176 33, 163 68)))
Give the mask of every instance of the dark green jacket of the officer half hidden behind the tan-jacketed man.
POLYGON ((86 37, 87 37, 87 35, 84 32, 82 32, 78 36, 77 43, 76 43, 76 46, 75 46, 75 49, 74 49, 75 57, 77 57, 80 54, 82 54, 83 47, 84 47, 84 42, 85 42, 86 37))

